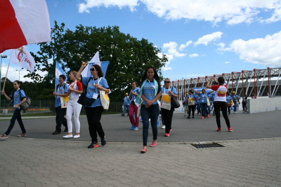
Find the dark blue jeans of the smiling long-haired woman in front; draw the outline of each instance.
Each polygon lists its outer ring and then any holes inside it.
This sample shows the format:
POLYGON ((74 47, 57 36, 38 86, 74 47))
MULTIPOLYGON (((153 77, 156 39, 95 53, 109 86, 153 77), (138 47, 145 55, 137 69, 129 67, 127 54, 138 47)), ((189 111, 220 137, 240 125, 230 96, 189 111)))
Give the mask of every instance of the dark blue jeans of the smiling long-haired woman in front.
POLYGON ((143 143, 144 146, 147 146, 149 118, 151 119, 153 140, 157 140, 157 119, 159 116, 159 105, 152 104, 149 108, 145 108, 145 105, 143 104, 142 108, 140 108, 140 113, 142 114, 143 119, 143 143))

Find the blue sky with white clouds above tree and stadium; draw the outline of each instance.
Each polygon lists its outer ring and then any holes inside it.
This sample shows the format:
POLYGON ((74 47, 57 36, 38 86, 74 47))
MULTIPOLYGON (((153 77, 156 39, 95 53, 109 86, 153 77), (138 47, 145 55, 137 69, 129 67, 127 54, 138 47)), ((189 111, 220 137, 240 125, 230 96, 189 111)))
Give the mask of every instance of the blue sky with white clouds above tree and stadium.
MULTIPOLYGON (((46 0, 51 26, 114 26, 166 54, 161 69, 171 81, 242 70, 281 67, 280 0, 46 0)), ((36 53, 38 45, 28 44, 36 53)), ((6 76, 11 50, 2 54, 6 76)), ((94 56, 95 54, 92 54, 94 56)), ((161 54, 159 54, 161 55, 161 54)), ((8 78, 18 79, 20 67, 10 65, 8 78)), ((20 81, 31 81, 27 70, 20 81)), ((46 72, 40 72, 41 75, 46 72)))

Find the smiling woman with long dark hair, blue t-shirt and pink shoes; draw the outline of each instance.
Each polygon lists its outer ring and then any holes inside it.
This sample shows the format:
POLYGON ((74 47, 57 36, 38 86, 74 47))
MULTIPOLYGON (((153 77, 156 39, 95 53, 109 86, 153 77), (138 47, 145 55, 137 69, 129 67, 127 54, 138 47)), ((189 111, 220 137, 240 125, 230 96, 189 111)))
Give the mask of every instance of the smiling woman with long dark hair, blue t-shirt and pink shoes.
POLYGON ((142 85, 136 98, 136 105, 140 104, 140 97, 143 99, 142 106, 140 106, 140 113, 143 120, 143 149, 142 152, 147 151, 148 127, 149 118, 151 119, 151 128, 153 133, 153 142, 150 147, 155 147, 157 143, 157 119, 159 116, 159 98, 161 96, 160 78, 153 66, 146 68, 142 78, 142 85))

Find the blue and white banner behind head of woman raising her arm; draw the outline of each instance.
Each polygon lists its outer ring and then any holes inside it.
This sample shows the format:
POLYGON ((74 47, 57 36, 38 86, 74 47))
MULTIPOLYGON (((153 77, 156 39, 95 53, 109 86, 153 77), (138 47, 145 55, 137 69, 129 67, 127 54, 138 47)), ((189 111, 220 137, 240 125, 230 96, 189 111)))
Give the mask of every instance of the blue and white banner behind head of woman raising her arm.
POLYGON ((109 61, 105 61, 105 62, 100 62, 100 57, 99 57, 99 51, 96 53, 95 56, 93 56, 93 58, 91 59, 91 61, 89 62, 89 64, 84 68, 84 70, 82 71, 81 75, 82 76, 92 76, 91 72, 90 72, 90 68, 93 64, 98 64, 99 66, 101 66, 102 71, 103 71, 103 77, 105 77, 106 74, 106 70, 109 64, 109 61))

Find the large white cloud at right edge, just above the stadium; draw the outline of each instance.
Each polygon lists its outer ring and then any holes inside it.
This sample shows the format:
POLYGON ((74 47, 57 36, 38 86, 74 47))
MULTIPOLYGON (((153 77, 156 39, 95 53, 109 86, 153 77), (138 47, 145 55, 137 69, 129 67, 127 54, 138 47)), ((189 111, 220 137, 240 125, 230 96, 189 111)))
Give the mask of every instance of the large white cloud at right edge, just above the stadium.
POLYGON ((254 64, 264 64, 269 67, 281 66, 281 31, 265 38, 244 41, 234 40, 228 48, 221 50, 234 51, 240 59, 254 64))

